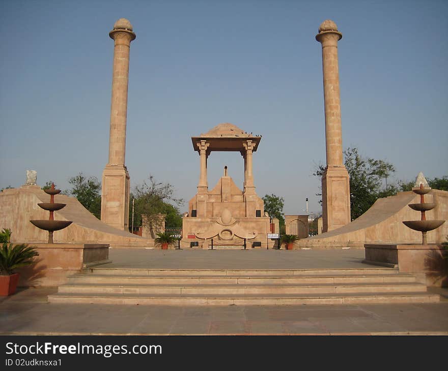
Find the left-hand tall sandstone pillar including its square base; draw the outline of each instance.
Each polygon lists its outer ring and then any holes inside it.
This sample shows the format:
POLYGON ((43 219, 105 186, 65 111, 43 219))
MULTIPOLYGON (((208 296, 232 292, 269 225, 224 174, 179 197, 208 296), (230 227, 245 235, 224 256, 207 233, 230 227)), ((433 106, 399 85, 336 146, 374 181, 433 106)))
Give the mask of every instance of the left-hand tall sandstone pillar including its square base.
POLYGON ((131 23, 120 18, 109 32, 115 41, 110 104, 109 161, 104 168, 101 221, 122 230, 129 228, 130 178, 125 166, 128 105, 129 48, 135 39, 131 23))

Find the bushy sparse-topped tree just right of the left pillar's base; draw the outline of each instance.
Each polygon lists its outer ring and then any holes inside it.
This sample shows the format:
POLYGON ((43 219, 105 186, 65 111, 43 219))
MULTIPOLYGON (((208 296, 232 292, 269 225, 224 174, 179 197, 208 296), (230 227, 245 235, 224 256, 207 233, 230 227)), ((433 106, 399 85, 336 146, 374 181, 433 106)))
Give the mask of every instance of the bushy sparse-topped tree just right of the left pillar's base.
POLYGON ((142 215, 147 215, 149 227, 156 227, 158 218, 155 214, 166 214, 166 227, 182 227, 182 217, 179 212, 184 200, 176 198, 175 189, 170 183, 156 181, 153 175, 143 184, 136 185, 131 194, 129 225, 132 225, 132 199, 134 200, 134 226, 142 225, 142 215))

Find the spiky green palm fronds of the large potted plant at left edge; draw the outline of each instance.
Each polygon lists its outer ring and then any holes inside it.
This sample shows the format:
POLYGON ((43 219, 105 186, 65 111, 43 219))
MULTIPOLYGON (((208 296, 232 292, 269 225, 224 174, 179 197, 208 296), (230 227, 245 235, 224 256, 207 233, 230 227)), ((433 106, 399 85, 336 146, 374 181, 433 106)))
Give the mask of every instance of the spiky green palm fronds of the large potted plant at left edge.
POLYGON ((4 242, 0 249, 0 275, 11 275, 14 269, 32 264, 37 255, 34 246, 4 242))

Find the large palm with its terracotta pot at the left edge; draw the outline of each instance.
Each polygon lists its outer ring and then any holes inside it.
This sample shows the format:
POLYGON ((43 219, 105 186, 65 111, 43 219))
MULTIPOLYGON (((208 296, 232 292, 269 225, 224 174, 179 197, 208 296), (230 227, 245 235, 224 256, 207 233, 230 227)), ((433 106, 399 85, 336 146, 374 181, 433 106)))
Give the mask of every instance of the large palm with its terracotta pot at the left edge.
POLYGON ((16 292, 20 274, 14 273, 14 270, 32 264, 37 255, 39 254, 34 246, 25 243, 3 243, 0 249, 0 296, 16 292))

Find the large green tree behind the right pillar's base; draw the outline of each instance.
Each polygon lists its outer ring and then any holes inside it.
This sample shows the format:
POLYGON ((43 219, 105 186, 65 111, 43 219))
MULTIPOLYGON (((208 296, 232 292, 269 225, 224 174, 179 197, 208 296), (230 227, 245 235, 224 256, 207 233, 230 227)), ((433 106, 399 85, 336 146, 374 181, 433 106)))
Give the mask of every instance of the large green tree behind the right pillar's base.
MULTIPOLYGON (((357 148, 344 150, 344 165, 350 176, 351 220, 365 213, 380 197, 392 196, 399 190, 397 185, 388 184, 382 188, 382 180, 395 172, 394 165, 384 161, 363 158, 357 148)), ((322 176, 322 165, 313 175, 322 176)))

